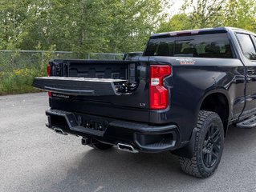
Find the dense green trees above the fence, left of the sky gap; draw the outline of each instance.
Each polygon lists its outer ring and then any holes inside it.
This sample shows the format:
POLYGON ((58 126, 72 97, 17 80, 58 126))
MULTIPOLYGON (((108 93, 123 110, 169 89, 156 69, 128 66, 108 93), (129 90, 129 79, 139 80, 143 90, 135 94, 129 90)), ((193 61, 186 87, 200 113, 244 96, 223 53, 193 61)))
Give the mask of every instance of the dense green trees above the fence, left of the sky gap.
POLYGON ((2 0, 0 49, 143 50, 168 0, 2 0))

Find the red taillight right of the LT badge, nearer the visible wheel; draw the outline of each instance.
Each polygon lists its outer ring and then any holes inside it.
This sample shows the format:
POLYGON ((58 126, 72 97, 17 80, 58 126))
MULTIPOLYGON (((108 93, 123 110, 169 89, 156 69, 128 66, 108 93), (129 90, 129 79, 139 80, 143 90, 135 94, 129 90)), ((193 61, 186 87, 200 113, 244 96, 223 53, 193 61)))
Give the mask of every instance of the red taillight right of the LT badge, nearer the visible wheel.
POLYGON ((169 90, 163 84, 163 79, 172 73, 170 66, 150 66, 149 108, 164 110, 169 106, 169 90))

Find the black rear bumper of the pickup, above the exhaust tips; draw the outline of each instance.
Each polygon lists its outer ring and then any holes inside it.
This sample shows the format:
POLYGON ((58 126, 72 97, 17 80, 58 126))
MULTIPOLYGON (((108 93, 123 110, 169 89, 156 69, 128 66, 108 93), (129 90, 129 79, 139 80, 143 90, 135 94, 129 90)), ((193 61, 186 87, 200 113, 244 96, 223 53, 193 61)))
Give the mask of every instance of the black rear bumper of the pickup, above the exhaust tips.
POLYGON ((90 137, 112 145, 124 143, 144 152, 176 150, 180 132, 176 125, 149 126, 114 118, 77 114, 63 110, 47 110, 47 127, 59 128, 68 134, 90 137))

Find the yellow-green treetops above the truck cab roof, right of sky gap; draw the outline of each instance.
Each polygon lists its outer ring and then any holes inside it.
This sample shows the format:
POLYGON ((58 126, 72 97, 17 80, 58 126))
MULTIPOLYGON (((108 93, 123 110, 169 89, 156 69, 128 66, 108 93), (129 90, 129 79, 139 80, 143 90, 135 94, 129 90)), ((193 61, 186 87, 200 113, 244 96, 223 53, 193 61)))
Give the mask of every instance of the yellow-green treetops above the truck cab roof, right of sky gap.
POLYGON ((254 0, 189 0, 158 32, 233 26, 256 32, 254 0))

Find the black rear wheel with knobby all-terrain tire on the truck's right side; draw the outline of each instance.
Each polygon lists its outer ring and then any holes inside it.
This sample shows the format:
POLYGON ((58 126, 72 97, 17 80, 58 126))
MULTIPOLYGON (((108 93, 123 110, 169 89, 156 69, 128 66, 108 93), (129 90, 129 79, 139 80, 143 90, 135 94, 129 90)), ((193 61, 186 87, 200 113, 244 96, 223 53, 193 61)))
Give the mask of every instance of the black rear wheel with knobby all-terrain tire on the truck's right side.
POLYGON ((197 118, 197 135, 193 158, 180 157, 181 169, 198 178, 208 178, 221 161, 224 130, 218 114, 201 110, 197 118))

